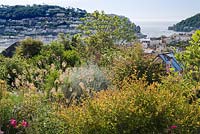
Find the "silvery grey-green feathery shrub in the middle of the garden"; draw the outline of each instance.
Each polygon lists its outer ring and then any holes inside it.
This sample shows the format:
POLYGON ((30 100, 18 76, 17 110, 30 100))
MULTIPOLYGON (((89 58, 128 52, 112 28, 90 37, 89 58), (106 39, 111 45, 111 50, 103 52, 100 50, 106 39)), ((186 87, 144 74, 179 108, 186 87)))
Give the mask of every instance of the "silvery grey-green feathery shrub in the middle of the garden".
POLYGON ((109 84, 103 71, 96 65, 68 69, 61 78, 61 87, 69 103, 73 98, 78 99, 88 93, 91 95, 93 90, 107 89, 109 84))

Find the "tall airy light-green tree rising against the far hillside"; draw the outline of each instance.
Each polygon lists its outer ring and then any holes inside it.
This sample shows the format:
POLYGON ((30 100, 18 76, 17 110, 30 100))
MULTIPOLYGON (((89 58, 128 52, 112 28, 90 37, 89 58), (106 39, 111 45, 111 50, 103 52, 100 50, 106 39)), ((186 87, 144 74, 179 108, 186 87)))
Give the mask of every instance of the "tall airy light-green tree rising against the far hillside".
POLYGON ((95 11, 83 19, 80 29, 86 36, 86 50, 89 54, 102 54, 115 44, 127 44, 134 40, 134 27, 125 17, 107 15, 95 11))

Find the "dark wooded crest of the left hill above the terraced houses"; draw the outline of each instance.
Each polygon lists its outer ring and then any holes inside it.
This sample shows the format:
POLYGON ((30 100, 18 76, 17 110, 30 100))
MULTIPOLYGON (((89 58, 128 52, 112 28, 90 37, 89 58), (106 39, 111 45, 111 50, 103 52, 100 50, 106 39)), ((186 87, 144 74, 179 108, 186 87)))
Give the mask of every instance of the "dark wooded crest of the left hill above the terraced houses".
POLYGON ((1 6, 0 19, 20 20, 26 18, 36 17, 55 17, 59 13, 67 17, 84 17, 85 10, 75 8, 63 8, 59 6, 50 5, 33 5, 33 6, 1 6))

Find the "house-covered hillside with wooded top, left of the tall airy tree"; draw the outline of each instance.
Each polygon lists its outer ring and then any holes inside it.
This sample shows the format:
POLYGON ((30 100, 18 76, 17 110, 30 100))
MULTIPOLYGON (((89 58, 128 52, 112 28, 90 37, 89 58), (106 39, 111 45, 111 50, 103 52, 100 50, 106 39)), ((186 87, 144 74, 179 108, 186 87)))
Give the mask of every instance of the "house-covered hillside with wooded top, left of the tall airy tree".
POLYGON ((50 5, 1 6, 0 35, 31 36, 76 33, 74 28, 87 12, 50 5))

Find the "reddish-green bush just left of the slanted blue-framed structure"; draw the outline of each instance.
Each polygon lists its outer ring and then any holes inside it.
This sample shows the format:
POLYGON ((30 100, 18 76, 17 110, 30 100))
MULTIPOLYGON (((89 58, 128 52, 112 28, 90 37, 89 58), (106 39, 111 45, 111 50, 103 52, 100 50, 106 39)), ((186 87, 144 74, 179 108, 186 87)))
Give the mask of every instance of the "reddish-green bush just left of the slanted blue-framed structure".
POLYGON ((161 63, 152 63, 154 56, 145 56, 140 44, 130 47, 123 47, 113 55, 110 69, 111 81, 120 87, 123 80, 136 75, 136 79, 144 78, 148 83, 160 82, 163 71, 161 63))

